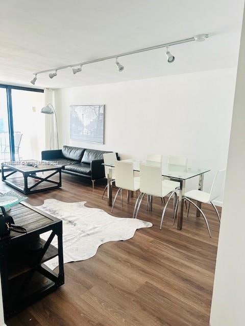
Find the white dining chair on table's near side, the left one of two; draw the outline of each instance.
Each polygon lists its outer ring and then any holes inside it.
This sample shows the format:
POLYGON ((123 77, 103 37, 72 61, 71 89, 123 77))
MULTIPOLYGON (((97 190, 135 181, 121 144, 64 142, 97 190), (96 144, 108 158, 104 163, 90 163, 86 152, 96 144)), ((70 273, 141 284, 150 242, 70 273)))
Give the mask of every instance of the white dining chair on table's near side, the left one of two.
POLYGON ((128 191, 127 202, 129 203, 129 192, 137 192, 139 189, 139 177, 134 176, 134 169, 132 162, 115 161, 115 185, 118 187, 115 198, 113 200, 112 209, 114 208, 116 198, 121 193, 121 205, 122 205, 122 189, 128 191))

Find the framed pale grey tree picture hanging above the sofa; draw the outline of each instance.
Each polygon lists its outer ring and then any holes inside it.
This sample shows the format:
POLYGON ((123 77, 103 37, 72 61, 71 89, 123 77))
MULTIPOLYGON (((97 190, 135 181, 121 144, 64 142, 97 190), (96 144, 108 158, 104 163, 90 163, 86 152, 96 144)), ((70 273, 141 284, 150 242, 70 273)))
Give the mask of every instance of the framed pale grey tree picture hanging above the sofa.
POLYGON ((104 104, 70 105, 70 139, 104 144, 104 104))

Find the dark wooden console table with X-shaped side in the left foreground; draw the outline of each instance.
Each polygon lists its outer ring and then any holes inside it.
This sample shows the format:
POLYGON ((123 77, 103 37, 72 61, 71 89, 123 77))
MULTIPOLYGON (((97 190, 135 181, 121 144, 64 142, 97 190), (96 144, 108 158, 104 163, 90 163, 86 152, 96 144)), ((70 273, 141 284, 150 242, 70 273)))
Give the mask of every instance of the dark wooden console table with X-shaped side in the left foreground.
MULTIPOLYGON (((62 221, 27 204, 14 206, 9 214, 27 233, 11 231, 0 240, 0 270, 5 318, 9 318, 64 284, 62 221), (47 241, 40 234, 50 231, 47 241), (51 244, 58 238, 58 249, 51 244), (33 250, 36 244, 42 248, 33 250), (44 263, 58 256, 58 274, 44 263)), ((1 218, 1 216, 0 216, 1 218)))

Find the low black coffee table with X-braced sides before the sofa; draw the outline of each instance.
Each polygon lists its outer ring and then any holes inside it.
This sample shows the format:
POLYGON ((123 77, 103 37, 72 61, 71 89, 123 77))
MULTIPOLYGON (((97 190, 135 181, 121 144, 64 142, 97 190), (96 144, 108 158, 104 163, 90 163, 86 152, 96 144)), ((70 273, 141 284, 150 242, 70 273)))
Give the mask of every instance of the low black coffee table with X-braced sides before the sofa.
POLYGON ((2 163, 2 180, 25 195, 56 189, 61 187, 61 166, 40 164, 35 160, 2 163), (28 166, 31 162, 37 166, 28 166), (45 172, 45 175, 37 175, 38 172, 45 172), (59 174, 59 181, 52 178, 56 174, 59 174))

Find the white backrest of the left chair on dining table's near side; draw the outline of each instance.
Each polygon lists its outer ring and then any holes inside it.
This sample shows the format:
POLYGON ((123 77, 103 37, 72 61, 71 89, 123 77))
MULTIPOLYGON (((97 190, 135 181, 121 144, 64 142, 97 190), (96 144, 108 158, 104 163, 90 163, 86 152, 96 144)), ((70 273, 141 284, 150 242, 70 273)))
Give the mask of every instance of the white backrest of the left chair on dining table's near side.
POLYGON ((134 170, 132 162, 115 161, 115 184, 119 188, 134 190, 134 170))

